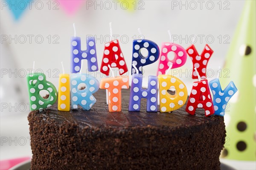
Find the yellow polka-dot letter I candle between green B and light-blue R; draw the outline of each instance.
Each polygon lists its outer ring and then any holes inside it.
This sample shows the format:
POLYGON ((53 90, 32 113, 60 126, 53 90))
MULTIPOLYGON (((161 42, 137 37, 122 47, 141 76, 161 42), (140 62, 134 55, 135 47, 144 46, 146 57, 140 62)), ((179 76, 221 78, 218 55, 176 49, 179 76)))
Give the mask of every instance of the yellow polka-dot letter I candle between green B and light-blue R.
POLYGON ((70 75, 59 75, 58 110, 70 111, 70 75))

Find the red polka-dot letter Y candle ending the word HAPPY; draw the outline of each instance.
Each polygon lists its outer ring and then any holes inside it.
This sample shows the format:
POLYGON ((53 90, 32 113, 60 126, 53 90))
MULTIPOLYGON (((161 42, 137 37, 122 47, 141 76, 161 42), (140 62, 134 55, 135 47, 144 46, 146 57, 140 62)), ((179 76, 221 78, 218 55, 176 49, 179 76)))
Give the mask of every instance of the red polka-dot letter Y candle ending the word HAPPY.
MULTIPOLYGON (((189 57, 191 58, 193 62, 193 68, 197 68, 199 75, 202 79, 206 79, 206 67, 207 63, 212 56, 212 49, 209 47, 209 45, 205 45, 204 50, 201 55, 198 54, 198 52, 195 49, 194 45, 191 45, 189 48, 186 49, 187 53, 189 54, 189 57)), ((192 72, 192 79, 197 79, 197 74, 195 70, 193 69, 192 72)))

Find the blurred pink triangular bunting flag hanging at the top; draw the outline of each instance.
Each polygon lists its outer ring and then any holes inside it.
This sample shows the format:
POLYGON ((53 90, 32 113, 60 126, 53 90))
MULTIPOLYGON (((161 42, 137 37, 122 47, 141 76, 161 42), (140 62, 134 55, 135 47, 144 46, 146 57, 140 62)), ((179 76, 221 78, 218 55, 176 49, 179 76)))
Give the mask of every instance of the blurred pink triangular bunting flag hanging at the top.
POLYGON ((67 12, 67 14, 73 14, 76 12, 85 0, 58 0, 62 8, 67 12))

